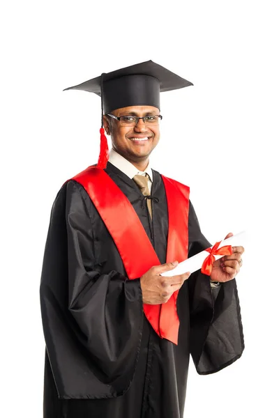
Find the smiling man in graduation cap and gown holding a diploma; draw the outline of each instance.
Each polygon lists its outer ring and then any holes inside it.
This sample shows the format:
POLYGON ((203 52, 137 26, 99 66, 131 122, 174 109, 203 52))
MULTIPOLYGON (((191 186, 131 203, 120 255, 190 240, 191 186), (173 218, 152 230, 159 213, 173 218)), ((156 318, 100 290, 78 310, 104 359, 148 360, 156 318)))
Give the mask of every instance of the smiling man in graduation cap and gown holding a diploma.
MULTIPOLYGON (((189 86, 147 61, 75 86, 102 99, 97 166, 54 201, 40 286, 45 418, 182 418, 189 355, 200 374, 243 352, 234 277, 243 247, 211 275, 163 277, 210 247, 187 186, 151 169, 160 91, 189 86)), ((229 234, 227 235, 229 236, 229 234)))

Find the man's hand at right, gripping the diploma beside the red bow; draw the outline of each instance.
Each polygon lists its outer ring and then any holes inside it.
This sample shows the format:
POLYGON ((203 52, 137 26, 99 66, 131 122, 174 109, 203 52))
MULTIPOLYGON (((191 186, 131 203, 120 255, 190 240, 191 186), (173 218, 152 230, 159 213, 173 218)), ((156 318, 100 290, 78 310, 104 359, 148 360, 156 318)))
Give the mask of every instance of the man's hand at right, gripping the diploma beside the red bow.
MULTIPOLYGON (((225 239, 232 237, 232 235, 232 233, 228 233, 225 239)), ((232 247, 231 256, 223 256, 214 261, 210 275, 211 281, 225 282, 234 279, 241 268, 243 252, 243 247, 232 247)))

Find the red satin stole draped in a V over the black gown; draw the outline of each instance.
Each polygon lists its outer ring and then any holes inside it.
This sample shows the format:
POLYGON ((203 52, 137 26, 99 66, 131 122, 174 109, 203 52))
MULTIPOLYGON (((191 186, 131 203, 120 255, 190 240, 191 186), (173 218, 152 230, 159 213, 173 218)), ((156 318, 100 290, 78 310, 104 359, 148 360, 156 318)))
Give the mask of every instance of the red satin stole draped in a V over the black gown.
MULTIPOLYGON (((162 178, 169 215, 167 263, 174 260, 180 263, 188 256, 189 187, 165 176, 162 178)), ((89 194, 115 242, 129 279, 140 278, 153 265, 160 265, 133 206, 103 169, 88 167, 73 180, 80 183, 89 194)), ((153 329, 161 338, 175 344, 179 333, 176 312, 178 293, 174 292, 165 304, 144 304, 144 314, 153 329)))

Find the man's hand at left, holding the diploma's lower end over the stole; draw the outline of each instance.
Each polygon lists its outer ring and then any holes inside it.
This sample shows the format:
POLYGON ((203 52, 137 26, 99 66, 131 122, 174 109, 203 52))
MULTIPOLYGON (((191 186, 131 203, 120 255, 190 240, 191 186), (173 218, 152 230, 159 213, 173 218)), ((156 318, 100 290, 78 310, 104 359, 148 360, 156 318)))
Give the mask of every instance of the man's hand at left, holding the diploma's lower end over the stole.
POLYGON ((161 273, 173 270, 178 261, 162 265, 154 265, 141 278, 142 300, 146 304, 166 303, 172 293, 178 291, 184 281, 190 276, 190 272, 178 276, 162 277, 161 273))

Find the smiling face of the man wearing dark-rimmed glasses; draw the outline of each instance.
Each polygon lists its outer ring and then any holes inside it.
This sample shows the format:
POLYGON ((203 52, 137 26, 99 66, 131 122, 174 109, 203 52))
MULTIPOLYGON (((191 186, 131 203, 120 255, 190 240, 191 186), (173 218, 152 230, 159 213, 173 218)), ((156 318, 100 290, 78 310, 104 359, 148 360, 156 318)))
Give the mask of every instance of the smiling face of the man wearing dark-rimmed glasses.
MULTIPOLYGON (((111 112, 114 116, 148 116, 160 114, 159 109, 153 106, 121 107, 111 112)), ((123 126, 120 121, 105 116, 104 127, 111 135, 112 148, 132 164, 148 162, 149 155, 160 139, 159 125, 145 125, 140 119, 135 126, 123 126)))

